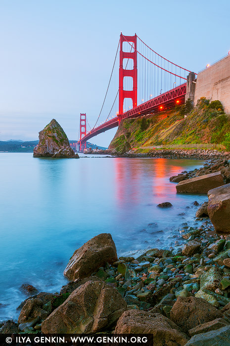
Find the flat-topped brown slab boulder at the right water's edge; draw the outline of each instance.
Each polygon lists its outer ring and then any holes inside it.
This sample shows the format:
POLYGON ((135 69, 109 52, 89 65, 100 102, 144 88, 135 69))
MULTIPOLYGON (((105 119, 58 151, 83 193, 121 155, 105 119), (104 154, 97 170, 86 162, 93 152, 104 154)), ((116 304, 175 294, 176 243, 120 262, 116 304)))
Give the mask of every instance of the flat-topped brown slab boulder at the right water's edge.
POLYGON ((196 176, 191 179, 181 181, 177 184, 177 192, 187 193, 208 193, 210 189, 224 185, 221 172, 215 172, 196 176))

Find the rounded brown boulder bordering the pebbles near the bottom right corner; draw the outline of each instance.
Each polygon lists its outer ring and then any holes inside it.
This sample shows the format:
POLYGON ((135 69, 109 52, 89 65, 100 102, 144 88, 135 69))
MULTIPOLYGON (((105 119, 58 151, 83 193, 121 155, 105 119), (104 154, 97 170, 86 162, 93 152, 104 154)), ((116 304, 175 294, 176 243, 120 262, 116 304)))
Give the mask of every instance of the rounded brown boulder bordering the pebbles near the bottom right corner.
POLYGON ((215 306, 195 297, 178 297, 170 312, 170 319, 181 327, 184 333, 199 324, 221 317, 221 311, 215 306))

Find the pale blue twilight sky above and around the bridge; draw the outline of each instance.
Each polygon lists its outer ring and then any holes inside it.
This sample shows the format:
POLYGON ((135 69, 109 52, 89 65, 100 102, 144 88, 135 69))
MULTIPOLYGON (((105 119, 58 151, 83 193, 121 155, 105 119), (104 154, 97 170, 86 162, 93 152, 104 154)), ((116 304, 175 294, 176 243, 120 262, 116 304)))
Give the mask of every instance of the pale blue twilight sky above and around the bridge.
POLYGON ((228 54, 229 14, 229 0, 0 0, 0 140, 38 139, 52 118, 77 139, 80 113, 94 125, 121 31, 198 72, 228 54))

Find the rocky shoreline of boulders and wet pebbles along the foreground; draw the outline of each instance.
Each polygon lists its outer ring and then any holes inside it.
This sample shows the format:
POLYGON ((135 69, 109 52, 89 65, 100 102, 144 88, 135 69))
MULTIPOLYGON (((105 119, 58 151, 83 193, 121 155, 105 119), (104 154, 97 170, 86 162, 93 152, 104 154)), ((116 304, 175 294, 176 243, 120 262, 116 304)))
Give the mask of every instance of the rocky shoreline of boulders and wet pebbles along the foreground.
MULTIPOLYGON (((229 183, 229 154, 224 159, 214 155, 170 180, 221 172, 229 183)), ((30 297, 0 333, 149 333, 155 346, 230 345, 230 235, 215 232, 207 202, 194 206, 195 223, 182 224, 174 248, 118 259, 111 235, 95 236, 71 257, 60 293, 23 286, 30 297)))

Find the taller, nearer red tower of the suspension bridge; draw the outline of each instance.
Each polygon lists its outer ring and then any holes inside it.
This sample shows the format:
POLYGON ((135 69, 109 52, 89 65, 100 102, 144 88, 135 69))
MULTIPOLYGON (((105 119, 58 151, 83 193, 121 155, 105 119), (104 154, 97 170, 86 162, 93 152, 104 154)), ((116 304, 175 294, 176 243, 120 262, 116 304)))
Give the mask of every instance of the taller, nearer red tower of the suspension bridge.
MULTIPOLYGON (((129 45, 129 44, 128 44, 129 45)), ((124 36, 121 33, 120 36, 120 68, 119 68, 119 124, 121 121, 121 115, 123 114, 123 104, 125 98, 132 98, 133 108, 137 106, 138 102, 138 64, 137 64, 137 35, 124 36), (123 51, 123 42, 130 43, 130 52, 123 51), (132 48, 133 47, 133 48, 132 48), (123 68, 123 59, 133 59, 133 70, 126 70, 123 68), (133 78, 133 90, 124 90, 123 83, 124 77, 133 78)))

